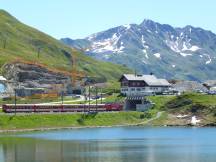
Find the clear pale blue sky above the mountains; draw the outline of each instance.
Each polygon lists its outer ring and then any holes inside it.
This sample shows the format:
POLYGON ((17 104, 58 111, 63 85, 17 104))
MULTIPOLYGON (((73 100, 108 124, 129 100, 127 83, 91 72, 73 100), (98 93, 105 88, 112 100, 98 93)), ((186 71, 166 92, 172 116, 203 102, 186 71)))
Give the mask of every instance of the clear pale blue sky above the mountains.
POLYGON ((215 0, 0 0, 0 8, 58 39, 84 38, 145 18, 216 33, 215 0))

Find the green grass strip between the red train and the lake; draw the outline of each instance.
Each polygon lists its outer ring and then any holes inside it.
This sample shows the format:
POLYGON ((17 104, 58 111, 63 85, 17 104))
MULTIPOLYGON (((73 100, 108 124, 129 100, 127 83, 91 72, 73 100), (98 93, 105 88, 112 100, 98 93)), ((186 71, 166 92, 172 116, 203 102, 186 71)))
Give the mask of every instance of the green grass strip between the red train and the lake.
POLYGON ((57 127, 115 126, 138 124, 146 120, 140 112, 96 114, 29 114, 0 115, 0 130, 40 129, 57 127))

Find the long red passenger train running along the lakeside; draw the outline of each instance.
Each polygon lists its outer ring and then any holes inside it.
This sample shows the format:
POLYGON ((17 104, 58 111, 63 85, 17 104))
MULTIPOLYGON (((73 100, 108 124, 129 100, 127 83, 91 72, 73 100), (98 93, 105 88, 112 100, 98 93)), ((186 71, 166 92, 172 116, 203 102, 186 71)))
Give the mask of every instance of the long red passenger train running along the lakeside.
POLYGON ((6 104, 2 106, 5 113, 40 113, 40 112, 103 112, 103 111, 122 111, 121 104, 6 104))

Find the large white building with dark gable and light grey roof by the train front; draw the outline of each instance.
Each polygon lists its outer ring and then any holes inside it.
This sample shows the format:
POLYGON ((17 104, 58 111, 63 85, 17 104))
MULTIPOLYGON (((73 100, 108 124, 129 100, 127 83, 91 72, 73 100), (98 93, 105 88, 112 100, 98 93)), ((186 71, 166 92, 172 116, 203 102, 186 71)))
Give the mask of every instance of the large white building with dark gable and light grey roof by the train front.
POLYGON ((124 74, 120 78, 121 94, 126 96, 146 96, 168 92, 171 84, 166 79, 154 75, 124 74))

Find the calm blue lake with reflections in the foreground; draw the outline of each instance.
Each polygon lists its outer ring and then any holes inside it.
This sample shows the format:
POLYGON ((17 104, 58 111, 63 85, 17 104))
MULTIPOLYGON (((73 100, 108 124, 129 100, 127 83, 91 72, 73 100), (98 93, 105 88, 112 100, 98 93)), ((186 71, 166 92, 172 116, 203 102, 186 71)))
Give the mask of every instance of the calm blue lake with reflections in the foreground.
POLYGON ((0 162, 215 161, 216 128, 95 128, 0 138, 0 162))

